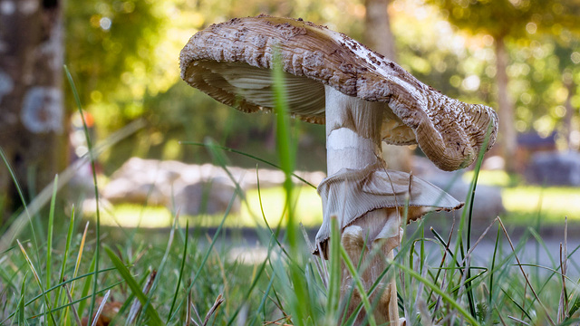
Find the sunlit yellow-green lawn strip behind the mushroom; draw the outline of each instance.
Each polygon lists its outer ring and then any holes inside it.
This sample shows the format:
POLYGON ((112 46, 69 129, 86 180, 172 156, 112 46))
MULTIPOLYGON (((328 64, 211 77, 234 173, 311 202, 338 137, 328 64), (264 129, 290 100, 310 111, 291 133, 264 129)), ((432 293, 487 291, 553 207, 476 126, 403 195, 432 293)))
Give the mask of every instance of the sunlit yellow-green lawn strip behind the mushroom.
MULTIPOLYGON (((510 225, 529 225, 535 223, 538 214, 544 224, 558 225, 567 216, 570 223, 580 223, 580 188, 578 187, 539 187, 518 186, 502 187, 501 194, 507 213, 503 216, 510 225)), ((284 207, 283 187, 250 189, 246 194, 247 201, 241 210, 232 213, 226 220, 228 227, 254 227, 265 225, 262 216, 262 205, 266 221, 271 226, 277 226, 281 221, 284 207), (261 203, 260 203, 261 197, 261 203)), ((465 198, 459 198, 465 200, 465 198)), ((312 187, 299 187, 296 216, 304 226, 317 227, 322 223, 322 204, 316 190, 312 187)), ((217 216, 188 216, 190 225, 216 227, 221 221, 217 216)), ((168 227, 171 224, 171 212, 163 206, 114 206, 111 214, 103 215, 104 225, 141 227, 168 227), (116 216, 116 222, 112 216, 116 216)), ((185 220, 182 222, 185 224, 185 220)))

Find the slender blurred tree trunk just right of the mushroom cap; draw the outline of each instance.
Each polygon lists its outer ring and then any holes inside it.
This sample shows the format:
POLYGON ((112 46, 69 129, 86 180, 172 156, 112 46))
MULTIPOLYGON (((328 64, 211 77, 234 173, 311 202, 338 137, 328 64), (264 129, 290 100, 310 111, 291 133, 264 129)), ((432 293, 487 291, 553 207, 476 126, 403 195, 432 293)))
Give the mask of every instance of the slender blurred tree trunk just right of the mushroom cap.
POLYGON ((513 159, 517 149, 517 136, 514 127, 514 104, 507 91, 507 62, 509 56, 503 37, 496 37, 496 68, 498 83, 498 116, 499 116, 499 137, 498 144, 501 155, 506 162, 506 171, 514 173, 516 171, 516 160, 513 159))

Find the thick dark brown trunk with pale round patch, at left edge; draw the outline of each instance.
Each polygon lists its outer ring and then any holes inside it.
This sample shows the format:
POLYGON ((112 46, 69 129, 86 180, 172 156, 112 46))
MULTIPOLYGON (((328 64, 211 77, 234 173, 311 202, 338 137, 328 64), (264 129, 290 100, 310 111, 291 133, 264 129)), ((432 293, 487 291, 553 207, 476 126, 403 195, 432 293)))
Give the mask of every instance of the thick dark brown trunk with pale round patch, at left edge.
MULTIPOLYGON (((59 0, 0 5, 0 147, 25 197, 46 186, 66 159, 61 9, 59 0)), ((21 206, 7 171, 1 162, 0 215, 21 206)))

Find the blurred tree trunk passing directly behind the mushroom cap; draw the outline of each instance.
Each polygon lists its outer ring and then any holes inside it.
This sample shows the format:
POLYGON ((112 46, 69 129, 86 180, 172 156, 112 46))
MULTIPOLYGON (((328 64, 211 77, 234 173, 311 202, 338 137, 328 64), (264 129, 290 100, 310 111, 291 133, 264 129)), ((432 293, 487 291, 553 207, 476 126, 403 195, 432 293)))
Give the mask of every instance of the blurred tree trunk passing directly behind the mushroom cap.
MULTIPOLYGON (((395 38, 387 12, 389 0, 365 0, 364 43, 393 62, 397 61, 395 38)), ((398 171, 411 171, 411 149, 406 146, 382 144, 387 167, 398 171)))

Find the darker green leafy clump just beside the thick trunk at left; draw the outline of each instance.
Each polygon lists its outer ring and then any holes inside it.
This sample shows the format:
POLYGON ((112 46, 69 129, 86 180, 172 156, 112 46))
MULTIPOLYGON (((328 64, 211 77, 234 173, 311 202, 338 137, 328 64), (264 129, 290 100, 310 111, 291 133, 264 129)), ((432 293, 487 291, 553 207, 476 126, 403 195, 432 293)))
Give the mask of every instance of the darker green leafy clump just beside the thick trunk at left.
POLYGON ((159 5, 154 3, 86 0, 67 5, 66 61, 79 81, 82 102, 102 103, 93 113, 112 118, 111 128, 140 116, 146 90, 168 86, 159 81, 162 74, 156 75, 164 17, 156 14, 159 5))

